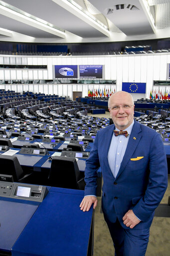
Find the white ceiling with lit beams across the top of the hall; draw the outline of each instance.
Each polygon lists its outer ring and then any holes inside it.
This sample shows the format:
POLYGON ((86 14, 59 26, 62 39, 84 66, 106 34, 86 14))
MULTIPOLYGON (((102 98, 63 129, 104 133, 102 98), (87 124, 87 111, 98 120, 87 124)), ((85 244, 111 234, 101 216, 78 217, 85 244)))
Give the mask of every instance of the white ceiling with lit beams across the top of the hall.
POLYGON ((0 0, 1 41, 109 42, 168 37, 170 0, 0 0))

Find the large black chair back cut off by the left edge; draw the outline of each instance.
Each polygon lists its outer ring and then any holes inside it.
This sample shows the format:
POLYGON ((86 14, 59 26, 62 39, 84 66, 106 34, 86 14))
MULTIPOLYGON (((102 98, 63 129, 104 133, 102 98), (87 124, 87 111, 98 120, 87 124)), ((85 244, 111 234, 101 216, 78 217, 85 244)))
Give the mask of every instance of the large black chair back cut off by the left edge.
POLYGON ((0 172, 13 176, 13 181, 18 182, 23 176, 23 170, 14 155, 0 155, 0 172))

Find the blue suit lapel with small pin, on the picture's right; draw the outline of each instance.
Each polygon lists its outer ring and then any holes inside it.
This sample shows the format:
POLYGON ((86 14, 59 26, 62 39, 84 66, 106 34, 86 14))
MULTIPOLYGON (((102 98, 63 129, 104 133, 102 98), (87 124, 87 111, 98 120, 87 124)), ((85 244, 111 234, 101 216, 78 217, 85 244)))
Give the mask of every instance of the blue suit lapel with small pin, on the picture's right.
POLYGON ((127 145, 127 148, 126 148, 126 151, 125 151, 125 154, 124 154, 124 157, 121 162, 121 166, 120 166, 120 169, 119 169, 119 172, 118 172, 116 178, 119 177, 119 175, 125 169, 129 159, 132 158, 132 155, 133 155, 136 147, 138 146, 141 137, 142 137, 142 132, 141 132, 140 124, 137 121, 135 121, 129 141, 128 141, 128 145, 127 145))

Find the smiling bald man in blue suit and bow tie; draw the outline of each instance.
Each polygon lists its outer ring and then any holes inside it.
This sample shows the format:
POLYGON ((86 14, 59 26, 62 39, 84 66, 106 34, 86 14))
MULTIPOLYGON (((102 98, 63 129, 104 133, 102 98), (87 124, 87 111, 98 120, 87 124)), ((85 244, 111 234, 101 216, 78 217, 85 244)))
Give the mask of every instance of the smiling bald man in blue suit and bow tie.
POLYGON ((134 120, 130 93, 112 94, 108 107, 114 124, 95 138, 85 169, 85 196, 80 209, 97 205, 96 178, 103 174, 102 209, 115 256, 144 256, 154 210, 168 184, 167 158, 161 135, 134 120))

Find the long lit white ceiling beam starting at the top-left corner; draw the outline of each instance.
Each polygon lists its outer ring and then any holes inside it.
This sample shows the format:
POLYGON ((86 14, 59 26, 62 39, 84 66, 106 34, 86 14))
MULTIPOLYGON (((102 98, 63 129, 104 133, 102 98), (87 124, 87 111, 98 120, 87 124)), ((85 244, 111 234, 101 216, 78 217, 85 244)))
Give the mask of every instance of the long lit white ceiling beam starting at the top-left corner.
POLYGON ((0 0, 0 14, 18 20, 27 25, 36 27, 56 36, 65 38, 65 30, 58 28, 54 24, 27 13, 13 5, 0 0))

